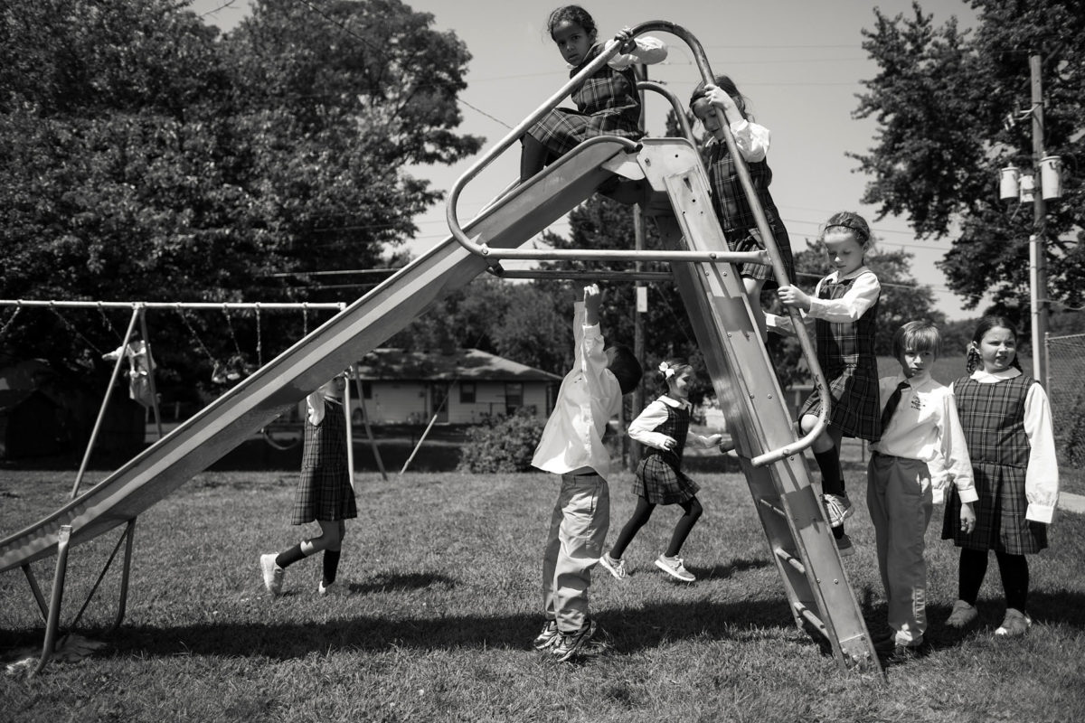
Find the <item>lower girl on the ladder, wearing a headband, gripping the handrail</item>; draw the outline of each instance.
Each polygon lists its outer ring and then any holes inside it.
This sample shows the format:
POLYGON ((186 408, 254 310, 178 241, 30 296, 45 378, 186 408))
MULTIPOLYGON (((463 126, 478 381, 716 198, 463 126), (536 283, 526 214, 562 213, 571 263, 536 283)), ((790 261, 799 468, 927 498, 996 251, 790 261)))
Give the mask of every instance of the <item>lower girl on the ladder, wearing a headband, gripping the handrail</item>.
MULTIPOLYGON (((821 472, 821 500, 826 517, 837 539, 841 556, 855 553, 844 532, 844 519, 853 513, 844 491, 840 466, 840 440, 858 437, 876 441, 881 436, 878 399, 878 363, 875 334, 878 330, 878 298, 881 284, 867 268, 864 255, 870 249, 870 227, 858 214, 833 214, 821 230, 819 241, 829 254, 832 273, 821 279, 810 296, 797 286, 777 293, 784 306, 799 309, 814 320, 817 361, 829 382, 832 409, 829 424, 812 444, 821 472)), ((766 314, 769 331, 790 334, 788 317, 766 314)), ((821 398, 815 391, 799 412, 799 425, 808 434, 817 425, 821 398)))

